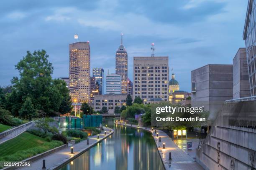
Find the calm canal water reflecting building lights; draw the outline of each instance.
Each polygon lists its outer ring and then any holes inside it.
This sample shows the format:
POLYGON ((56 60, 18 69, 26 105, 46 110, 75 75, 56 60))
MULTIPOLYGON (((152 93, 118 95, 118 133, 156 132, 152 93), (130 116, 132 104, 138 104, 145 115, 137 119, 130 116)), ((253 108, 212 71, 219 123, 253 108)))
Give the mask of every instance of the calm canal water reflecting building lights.
POLYGON ((164 170, 151 133, 103 120, 115 132, 59 170, 164 170))

